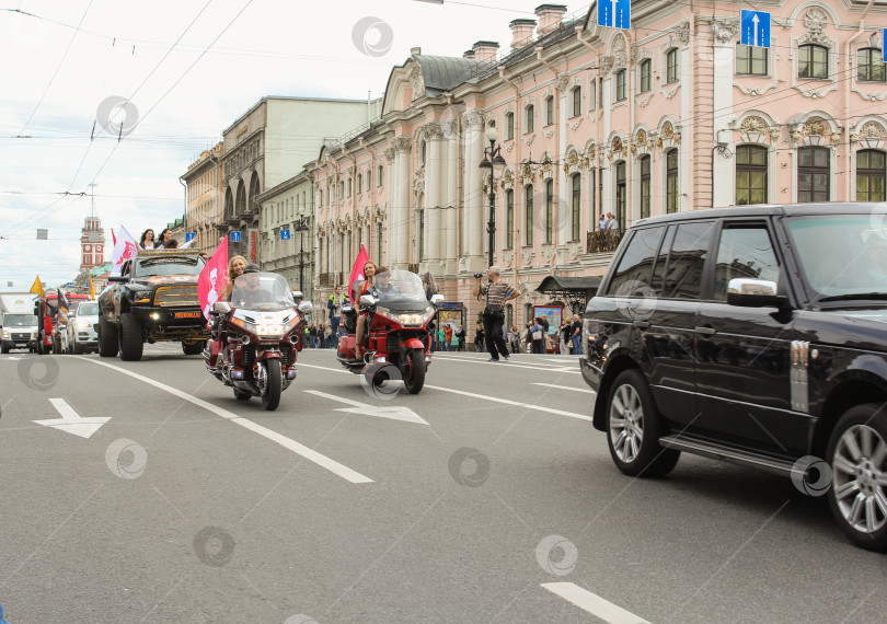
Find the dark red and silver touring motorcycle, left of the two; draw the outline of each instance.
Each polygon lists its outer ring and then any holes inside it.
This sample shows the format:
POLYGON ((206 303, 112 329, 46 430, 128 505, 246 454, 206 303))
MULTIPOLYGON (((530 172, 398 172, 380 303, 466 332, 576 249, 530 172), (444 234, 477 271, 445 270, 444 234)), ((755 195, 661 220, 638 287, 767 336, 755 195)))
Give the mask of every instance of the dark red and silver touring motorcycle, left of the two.
POLYGON ((265 409, 277 409, 280 393, 296 379, 303 315, 311 312, 311 302, 297 305, 292 294, 283 276, 251 273, 234 281, 231 303, 216 303, 220 327, 204 350, 204 362, 219 381, 233 386, 238 401, 260 396, 265 409))

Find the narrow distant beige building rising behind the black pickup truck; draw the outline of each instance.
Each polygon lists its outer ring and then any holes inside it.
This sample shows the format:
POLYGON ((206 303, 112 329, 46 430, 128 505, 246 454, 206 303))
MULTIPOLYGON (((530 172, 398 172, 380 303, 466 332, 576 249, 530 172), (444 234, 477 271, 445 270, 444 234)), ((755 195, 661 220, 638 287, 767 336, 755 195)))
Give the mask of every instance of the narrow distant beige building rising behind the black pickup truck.
MULTIPOLYGON (((212 253, 219 242, 216 224, 221 220, 222 186, 219 169, 222 153, 221 142, 204 151, 180 178, 187 185, 184 231, 195 232, 197 241, 192 246, 208 254, 212 253)), ((185 243, 184 236, 180 243, 185 243)))

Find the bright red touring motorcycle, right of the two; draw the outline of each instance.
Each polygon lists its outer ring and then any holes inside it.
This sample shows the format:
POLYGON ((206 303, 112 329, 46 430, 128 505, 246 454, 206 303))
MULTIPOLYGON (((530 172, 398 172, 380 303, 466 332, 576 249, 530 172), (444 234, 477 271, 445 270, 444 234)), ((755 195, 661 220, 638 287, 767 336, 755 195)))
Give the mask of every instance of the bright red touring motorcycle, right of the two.
POLYGON ((364 357, 355 351, 357 311, 343 308, 345 335, 338 340, 336 359, 355 374, 379 386, 389 380, 403 380, 410 394, 425 384, 425 372, 431 363, 431 337, 428 324, 444 301, 435 294, 425 297, 422 279, 408 270, 391 270, 376 276, 372 293, 360 298, 369 320, 365 331, 364 357))

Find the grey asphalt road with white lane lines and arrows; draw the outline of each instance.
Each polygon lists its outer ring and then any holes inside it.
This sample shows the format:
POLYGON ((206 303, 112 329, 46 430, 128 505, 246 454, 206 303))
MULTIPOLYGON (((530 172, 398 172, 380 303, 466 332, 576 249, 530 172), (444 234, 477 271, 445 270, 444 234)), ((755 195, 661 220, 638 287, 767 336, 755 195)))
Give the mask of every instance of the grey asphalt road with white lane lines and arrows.
POLYGON ((380 397, 307 350, 272 413, 177 345, 0 375, 10 624, 887 619, 887 557, 790 479, 619 473, 568 356, 436 354, 380 397))

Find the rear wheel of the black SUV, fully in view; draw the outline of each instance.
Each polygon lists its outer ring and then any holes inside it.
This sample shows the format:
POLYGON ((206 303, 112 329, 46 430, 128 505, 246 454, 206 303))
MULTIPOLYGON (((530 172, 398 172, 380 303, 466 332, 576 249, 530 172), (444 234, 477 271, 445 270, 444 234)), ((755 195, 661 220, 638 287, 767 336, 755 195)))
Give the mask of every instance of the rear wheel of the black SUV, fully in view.
POLYGON ((659 446, 666 434, 647 382, 630 369, 617 377, 607 405, 607 442, 613 463, 630 476, 671 472, 680 451, 659 446))

